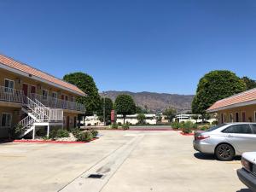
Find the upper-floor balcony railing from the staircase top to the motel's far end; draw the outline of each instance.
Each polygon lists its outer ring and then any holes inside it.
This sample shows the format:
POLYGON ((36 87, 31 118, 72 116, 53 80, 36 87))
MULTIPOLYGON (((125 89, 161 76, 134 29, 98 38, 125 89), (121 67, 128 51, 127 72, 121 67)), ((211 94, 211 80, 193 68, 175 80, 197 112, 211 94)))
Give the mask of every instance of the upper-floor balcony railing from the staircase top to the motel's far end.
POLYGON ((44 106, 49 108, 63 108, 82 112, 85 111, 84 105, 78 102, 69 102, 51 96, 44 97, 38 94, 31 94, 29 97, 32 98, 32 100, 38 100, 39 102, 43 103, 44 106))

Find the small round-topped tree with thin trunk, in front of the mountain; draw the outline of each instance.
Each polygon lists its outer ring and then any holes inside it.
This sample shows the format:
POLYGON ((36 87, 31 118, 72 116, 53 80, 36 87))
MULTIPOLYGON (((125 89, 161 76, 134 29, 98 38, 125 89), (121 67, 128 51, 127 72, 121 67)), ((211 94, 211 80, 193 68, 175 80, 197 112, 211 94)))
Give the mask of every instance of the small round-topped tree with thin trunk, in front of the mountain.
POLYGON ((124 125, 126 115, 136 113, 135 102, 133 101, 131 96, 125 94, 117 96, 114 102, 114 108, 117 113, 123 115, 124 125))

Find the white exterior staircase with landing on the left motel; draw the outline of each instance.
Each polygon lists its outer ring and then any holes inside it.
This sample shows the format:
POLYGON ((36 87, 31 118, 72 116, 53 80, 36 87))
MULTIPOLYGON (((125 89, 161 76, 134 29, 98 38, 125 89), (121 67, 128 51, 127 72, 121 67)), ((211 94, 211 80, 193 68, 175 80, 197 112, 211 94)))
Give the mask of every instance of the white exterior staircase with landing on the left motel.
MULTIPOLYGON (((46 108, 35 98, 24 96, 21 110, 27 114, 26 118, 20 120, 16 126, 20 126, 21 137, 25 137, 33 131, 32 138, 35 137, 36 125, 45 125, 45 123, 63 123, 63 110, 57 108, 46 108)), ((48 132, 49 134, 49 132, 48 132)))

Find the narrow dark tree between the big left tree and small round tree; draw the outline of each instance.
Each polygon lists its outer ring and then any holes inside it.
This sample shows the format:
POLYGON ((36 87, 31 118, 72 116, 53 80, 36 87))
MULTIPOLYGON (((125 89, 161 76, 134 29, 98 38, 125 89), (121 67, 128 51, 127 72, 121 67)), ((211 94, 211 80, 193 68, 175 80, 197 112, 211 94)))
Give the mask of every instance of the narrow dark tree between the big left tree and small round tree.
MULTIPOLYGON (((113 110, 113 102, 110 98, 105 98, 105 120, 107 122, 107 125, 109 122, 111 122, 111 111, 113 110)), ((104 111, 104 98, 102 98, 101 101, 101 107, 99 108, 97 115, 100 116, 100 119, 103 118, 103 111, 104 111)))

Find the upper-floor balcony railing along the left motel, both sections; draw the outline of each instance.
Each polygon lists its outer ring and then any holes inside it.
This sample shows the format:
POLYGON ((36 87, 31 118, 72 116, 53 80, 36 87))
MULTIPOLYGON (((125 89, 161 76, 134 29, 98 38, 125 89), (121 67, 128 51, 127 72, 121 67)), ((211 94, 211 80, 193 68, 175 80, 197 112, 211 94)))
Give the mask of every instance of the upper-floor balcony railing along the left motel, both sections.
MULTIPOLYGON (((78 102, 69 102, 50 96, 45 97, 38 94, 30 94, 28 97, 32 100, 37 99, 39 102, 43 103, 45 107, 48 108, 61 108, 80 112, 85 111, 84 105, 78 102)), ((26 96, 24 95, 23 90, 15 90, 0 86, 0 101, 24 104, 26 103, 26 96)))

